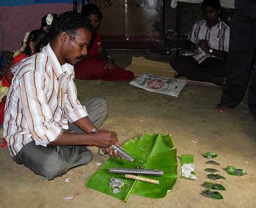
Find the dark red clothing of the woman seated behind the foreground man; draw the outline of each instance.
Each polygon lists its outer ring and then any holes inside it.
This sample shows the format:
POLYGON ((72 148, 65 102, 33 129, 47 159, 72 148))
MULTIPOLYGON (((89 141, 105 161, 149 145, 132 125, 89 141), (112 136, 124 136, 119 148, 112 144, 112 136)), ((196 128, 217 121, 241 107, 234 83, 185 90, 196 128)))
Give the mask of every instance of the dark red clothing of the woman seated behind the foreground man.
POLYGON ((75 65, 76 78, 81 80, 101 79, 104 81, 123 80, 125 82, 131 82, 134 78, 132 71, 124 70, 116 66, 116 64, 113 70, 104 69, 107 62, 99 57, 99 45, 101 41, 100 33, 96 31, 88 57, 84 57, 83 60, 75 65))

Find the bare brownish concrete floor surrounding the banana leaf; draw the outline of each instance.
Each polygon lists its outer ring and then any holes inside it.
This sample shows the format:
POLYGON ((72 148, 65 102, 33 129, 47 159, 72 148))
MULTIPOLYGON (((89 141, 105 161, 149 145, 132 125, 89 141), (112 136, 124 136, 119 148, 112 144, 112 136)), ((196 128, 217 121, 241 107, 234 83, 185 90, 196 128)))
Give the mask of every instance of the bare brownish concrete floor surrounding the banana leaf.
MULTIPOLYGON (((148 51, 109 51, 120 66, 128 66, 131 56, 145 56, 168 61, 169 57, 148 51)), ((47 181, 28 168, 16 165, 8 150, 0 151, 0 207, 256 207, 256 128, 246 107, 246 101, 225 114, 216 112, 220 87, 186 85, 175 98, 150 93, 124 82, 76 80, 79 98, 104 96, 109 101, 109 115, 102 128, 116 131, 120 143, 145 131, 171 133, 177 156, 193 154, 197 181, 180 177, 173 191, 161 199, 131 195, 127 203, 84 187, 99 168, 96 163, 107 159, 97 155, 89 165, 70 170, 66 175, 47 181), (196 143, 192 142, 196 140, 196 143), (205 164, 204 152, 214 151, 221 165, 205 164), (244 168, 248 175, 227 175, 223 168, 233 165, 244 168), (204 168, 214 167, 227 180, 217 181, 227 191, 224 200, 212 200, 201 195, 207 179, 204 168), (69 178, 70 182, 65 182, 69 178), (72 200, 65 197, 74 196, 72 200)), ((245 99, 244 99, 245 100, 245 99)))

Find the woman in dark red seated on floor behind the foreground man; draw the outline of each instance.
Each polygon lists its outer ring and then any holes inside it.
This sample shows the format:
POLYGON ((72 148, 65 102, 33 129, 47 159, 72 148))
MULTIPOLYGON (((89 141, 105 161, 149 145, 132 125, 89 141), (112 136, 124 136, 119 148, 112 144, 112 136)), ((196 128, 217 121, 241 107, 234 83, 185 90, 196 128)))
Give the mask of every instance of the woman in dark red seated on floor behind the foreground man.
POLYGON ((85 4, 81 13, 92 22, 95 34, 88 56, 75 65, 75 76, 82 80, 101 79, 104 81, 123 80, 130 82, 134 75, 132 71, 116 66, 113 57, 102 47, 102 38, 97 30, 102 19, 102 13, 95 4, 85 4))

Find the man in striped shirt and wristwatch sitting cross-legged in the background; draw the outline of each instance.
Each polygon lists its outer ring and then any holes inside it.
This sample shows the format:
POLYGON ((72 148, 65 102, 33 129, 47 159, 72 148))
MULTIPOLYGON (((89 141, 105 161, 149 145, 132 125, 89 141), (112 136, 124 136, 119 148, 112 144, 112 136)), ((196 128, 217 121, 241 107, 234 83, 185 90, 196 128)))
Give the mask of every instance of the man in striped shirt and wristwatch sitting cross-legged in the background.
POLYGON ((193 56, 178 56, 170 61, 175 78, 225 85, 230 29, 219 19, 220 8, 219 0, 203 1, 205 20, 195 23, 187 41, 193 56))

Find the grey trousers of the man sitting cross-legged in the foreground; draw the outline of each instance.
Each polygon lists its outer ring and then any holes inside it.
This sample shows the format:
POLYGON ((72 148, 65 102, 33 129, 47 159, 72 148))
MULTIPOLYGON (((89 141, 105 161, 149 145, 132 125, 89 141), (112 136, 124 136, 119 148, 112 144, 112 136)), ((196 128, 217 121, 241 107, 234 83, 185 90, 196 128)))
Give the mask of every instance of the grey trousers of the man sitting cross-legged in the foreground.
MULTIPOLYGON (((105 98, 92 98, 84 103, 90 121, 99 128, 108 115, 108 103, 105 98)), ((68 124, 69 131, 84 133, 73 124, 68 124)), ((35 174, 42 175, 51 180, 66 174, 71 168, 86 165, 92 160, 92 152, 85 146, 53 146, 35 145, 35 142, 26 144, 19 153, 13 157, 19 165, 25 165, 35 174)))

